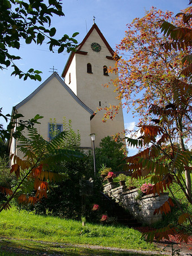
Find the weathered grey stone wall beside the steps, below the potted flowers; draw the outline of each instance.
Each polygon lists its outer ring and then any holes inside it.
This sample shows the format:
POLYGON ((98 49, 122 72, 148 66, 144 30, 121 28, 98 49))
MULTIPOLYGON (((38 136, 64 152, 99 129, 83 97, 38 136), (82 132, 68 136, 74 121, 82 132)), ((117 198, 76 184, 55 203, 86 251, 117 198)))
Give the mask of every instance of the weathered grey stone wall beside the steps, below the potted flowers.
POLYGON ((107 183, 104 185, 103 191, 109 197, 114 198, 116 202, 121 203, 121 206, 129 210, 130 214, 139 222, 145 224, 152 224, 162 219, 160 213, 154 215, 154 210, 162 206, 169 198, 168 193, 163 193, 160 196, 149 194, 141 199, 136 199, 138 189, 128 190, 126 186, 116 188, 116 183, 107 183))

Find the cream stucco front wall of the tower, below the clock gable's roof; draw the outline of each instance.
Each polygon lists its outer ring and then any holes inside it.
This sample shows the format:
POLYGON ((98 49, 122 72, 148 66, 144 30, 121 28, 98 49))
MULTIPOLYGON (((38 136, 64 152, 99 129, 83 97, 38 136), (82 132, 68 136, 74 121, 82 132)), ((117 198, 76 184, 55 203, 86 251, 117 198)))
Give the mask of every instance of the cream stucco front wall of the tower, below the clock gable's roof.
MULTIPOLYGON (((110 105, 119 105, 116 99, 115 87, 111 80, 116 79, 115 73, 108 73, 108 76, 103 75, 103 66, 108 68, 114 67, 115 61, 107 59, 111 57, 110 51, 104 44, 96 29, 90 34, 85 44, 81 47, 81 51, 87 51, 87 55, 76 54, 76 75, 77 75, 77 96, 91 110, 97 111, 97 108, 109 107, 110 105), (102 49, 99 53, 91 49, 91 44, 97 42, 102 49), (91 63, 92 72, 87 73, 87 64, 91 63), (104 84, 111 83, 110 86, 104 87, 104 84), (101 106, 99 106, 101 102, 101 106)), ((123 111, 119 110, 114 120, 108 120, 107 123, 102 122, 104 110, 97 112, 97 115, 91 120, 91 133, 97 134, 95 145, 99 146, 99 142, 103 137, 111 136, 112 134, 124 131, 123 111)))

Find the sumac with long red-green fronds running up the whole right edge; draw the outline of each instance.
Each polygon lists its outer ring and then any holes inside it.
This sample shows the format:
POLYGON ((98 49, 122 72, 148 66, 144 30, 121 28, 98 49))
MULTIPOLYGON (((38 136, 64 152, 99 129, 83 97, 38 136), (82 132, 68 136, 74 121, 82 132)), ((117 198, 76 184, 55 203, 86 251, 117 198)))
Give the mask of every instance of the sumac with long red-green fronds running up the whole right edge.
MULTIPOLYGON (((187 54, 191 47, 190 18, 192 15, 180 13, 176 16, 180 15, 183 16, 183 21, 187 23, 187 27, 184 25, 176 27, 167 21, 164 21, 161 25, 164 34, 171 37, 170 41, 162 44, 165 53, 168 53, 168 50, 171 51, 172 47, 182 53, 181 68, 173 76, 168 91, 172 98, 166 105, 165 103, 162 105, 162 102, 150 105, 149 113, 153 118, 151 122, 156 124, 141 124, 139 125, 141 137, 138 139, 128 138, 129 145, 145 146, 145 149, 137 155, 129 157, 127 161, 128 169, 133 171, 133 177, 138 179, 139 177, 151 176, 151 182, 154 183, 152 193, 158 193, 160 196, 160 192, 163 193, 164 190, 169 189, 174 198, 171 185, 177 183, 184 193, 184 197, 192 204, 191 151, 187 150, 184 144, 184 131, 186 131, 186 134, 189 132, 187 127, 191 128, 192 121, 190 117, 192 95, 190 83, 191 55, 187 54), (184 55, 186 56, 184 57, 184 55), (189 79, 187 79, 188 77, 189 79), (185 173, 185 179, 183 173, 185 173)), ((176 203, 180 207, 177 201, 176 203)), ((160 206, 159 209, 156 209, 154 214, 158 212, 167 214, 171 211, 170 206, 174 206, 171 199, 160 206)), ((182 209, 181 211, 182 215, 178 218, 176 226, 168 225, 168 227, 159 231, 147 233, 147 240, 152 241, 154 236, 160 240, 162 237, 168 238, 168 235, 171 234, 178 235, 181 241, 187 242, 192 227, 192 215, 182 209), (187 225, 187 222, 189 222, 189 225, 187 225)))

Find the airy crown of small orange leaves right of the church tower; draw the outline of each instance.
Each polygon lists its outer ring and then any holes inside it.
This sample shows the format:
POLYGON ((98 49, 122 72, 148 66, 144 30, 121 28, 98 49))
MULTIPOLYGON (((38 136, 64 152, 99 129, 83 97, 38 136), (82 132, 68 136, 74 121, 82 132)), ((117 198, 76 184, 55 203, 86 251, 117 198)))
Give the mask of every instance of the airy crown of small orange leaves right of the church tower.
MULTIPOLYGON (((184 12, 187 11, 191 14, 191 8, 184 12)), ((111 70, 119 73, 119 78, 114 81, 118 98, 124 99, 127 111, 133 110, 141 118, 142 124, 151 121, 151 103, 162 107, 172 102, 172 83, 183 70, 182 58, 190 52, 190 48, 166 51, 162 47, 165 42, 172 40, 161 33, 160 20, 170 21, 175 26, 183 25, 180 16, 173 18, 172 12, 152 7, 143 18, 136 18, 127 25, 125 37, 116 51, 122 57, 119 57, 115 68, 111 70), (129 57, 126 57, 127 54, 129 57)), ((183 83, 188 81, 184 76, 180 79, 183 83)), ((190 132, 189 127, 189 136, 190 132)))

